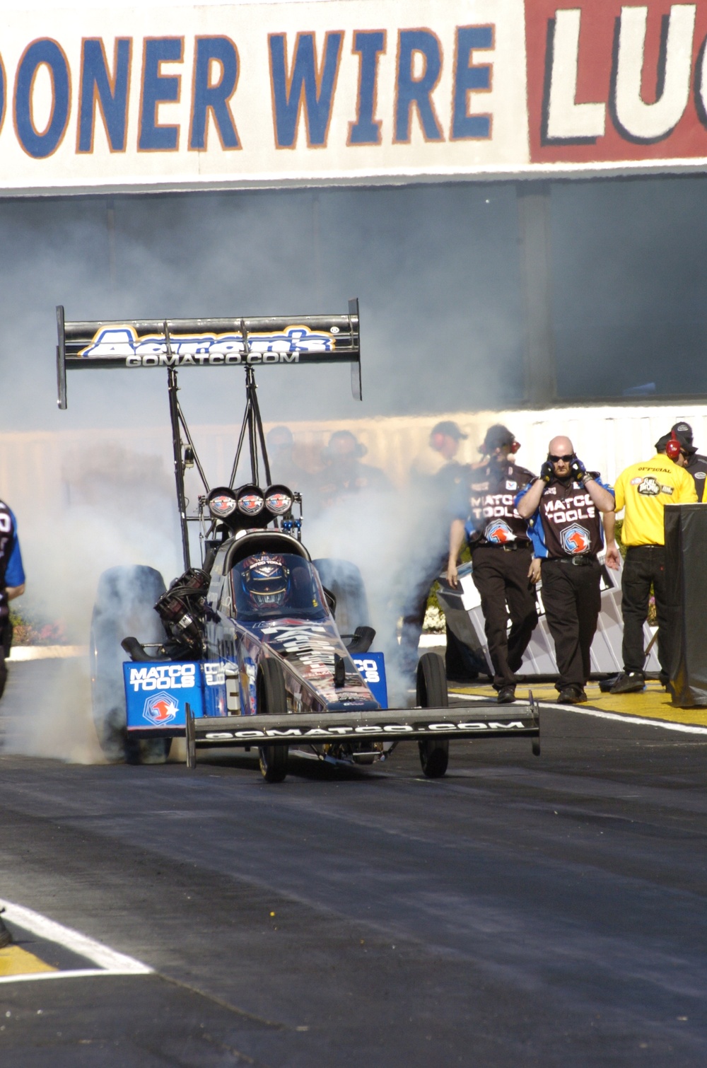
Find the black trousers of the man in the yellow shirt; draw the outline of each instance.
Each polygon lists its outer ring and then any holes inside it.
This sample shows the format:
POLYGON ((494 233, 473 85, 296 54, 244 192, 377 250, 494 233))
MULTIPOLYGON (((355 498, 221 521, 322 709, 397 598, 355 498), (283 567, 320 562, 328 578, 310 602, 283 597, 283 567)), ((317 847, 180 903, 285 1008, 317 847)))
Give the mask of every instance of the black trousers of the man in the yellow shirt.
POLYGON ((670 675, 669 623, 665 614, 665 548, 662 545, 632 545, 626 550, 622 572, 622 615, 624 671, 643 671, 645 653, 643 625, 648 618, 653 583, 658 615, 658 659, 660 674, 670 675))

